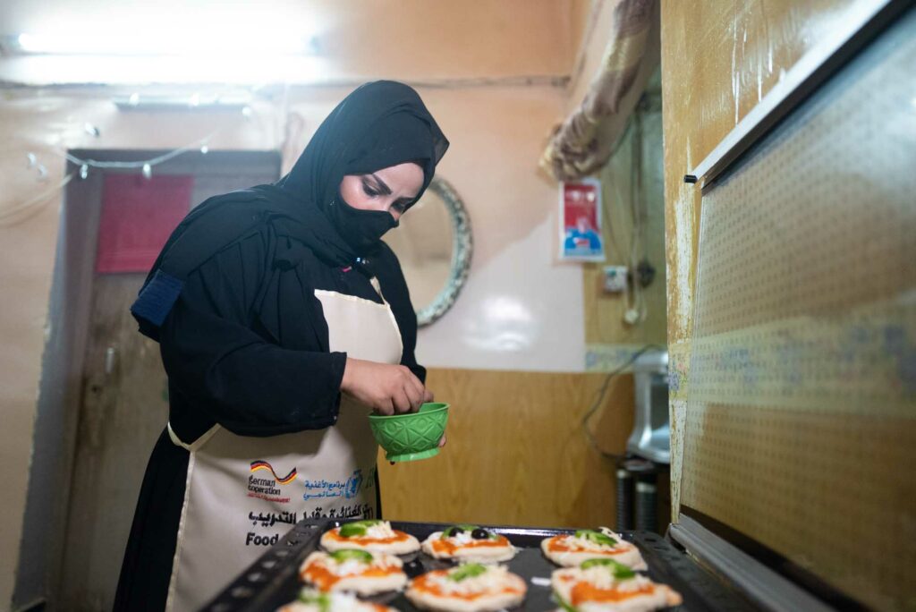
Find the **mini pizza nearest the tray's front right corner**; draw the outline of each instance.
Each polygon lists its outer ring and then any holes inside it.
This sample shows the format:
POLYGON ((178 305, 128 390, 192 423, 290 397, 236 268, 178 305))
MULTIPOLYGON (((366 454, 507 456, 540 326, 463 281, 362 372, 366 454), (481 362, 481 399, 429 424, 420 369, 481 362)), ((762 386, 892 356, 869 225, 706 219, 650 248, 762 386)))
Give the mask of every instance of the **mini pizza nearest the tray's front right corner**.
POLYGON ((551 575, 553 596, 566 612, 647 612, 679 606, 682 597, 613 559, 589 559, 551 575))

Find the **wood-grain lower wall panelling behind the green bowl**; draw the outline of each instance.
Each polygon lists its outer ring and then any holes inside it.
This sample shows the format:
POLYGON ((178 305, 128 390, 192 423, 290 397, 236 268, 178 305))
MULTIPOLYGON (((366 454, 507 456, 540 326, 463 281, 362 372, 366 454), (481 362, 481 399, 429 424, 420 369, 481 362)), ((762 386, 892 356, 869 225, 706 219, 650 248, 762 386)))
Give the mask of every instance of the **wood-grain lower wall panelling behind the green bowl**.
MULTIPOLYGON (((452 405, 439 456, 379 458, 387 519, 614 527, 613 462, 581 428, 602 374, 431 369, 436 399, 452 405)), ((592 419, 603 448, 620 453, 633 427, 633 377, 612 379, 592 419)), ((664 486, 664 485, 662 485, 664 486)))

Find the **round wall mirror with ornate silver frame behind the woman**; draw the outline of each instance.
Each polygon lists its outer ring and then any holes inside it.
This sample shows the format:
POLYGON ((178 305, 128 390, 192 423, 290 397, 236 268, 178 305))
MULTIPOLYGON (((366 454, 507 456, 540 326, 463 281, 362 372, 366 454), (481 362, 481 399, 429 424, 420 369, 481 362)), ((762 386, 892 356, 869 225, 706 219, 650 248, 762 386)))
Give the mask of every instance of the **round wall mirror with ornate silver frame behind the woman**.
POLYGON ((420 326, 448 311, 471 267, 471 222, 452 186, 438 177, 385 235, 400 261, 420 326))

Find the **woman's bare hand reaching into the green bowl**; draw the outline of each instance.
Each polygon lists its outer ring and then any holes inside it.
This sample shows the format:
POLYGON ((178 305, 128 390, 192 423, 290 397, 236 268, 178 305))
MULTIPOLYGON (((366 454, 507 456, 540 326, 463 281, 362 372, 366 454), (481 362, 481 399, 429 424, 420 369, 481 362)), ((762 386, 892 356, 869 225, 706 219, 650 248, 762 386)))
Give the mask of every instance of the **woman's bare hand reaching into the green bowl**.
POLYGON ((347 357, 341 391, 378 414, 416 412, 426 388, 407 366, 390 366, 347 357))

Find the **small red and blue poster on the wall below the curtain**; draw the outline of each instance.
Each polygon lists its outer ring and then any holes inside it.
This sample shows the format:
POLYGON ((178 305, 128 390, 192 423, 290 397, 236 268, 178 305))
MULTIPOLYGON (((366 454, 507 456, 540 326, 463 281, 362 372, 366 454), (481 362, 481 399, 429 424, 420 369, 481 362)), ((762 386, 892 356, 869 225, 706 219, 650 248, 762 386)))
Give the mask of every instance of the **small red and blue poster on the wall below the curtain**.
POLYGON ((560 183, 560 258, 569 261, 605 260, 599 180, 560 183))

